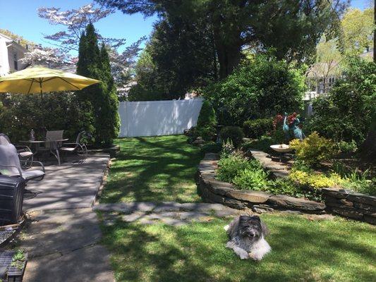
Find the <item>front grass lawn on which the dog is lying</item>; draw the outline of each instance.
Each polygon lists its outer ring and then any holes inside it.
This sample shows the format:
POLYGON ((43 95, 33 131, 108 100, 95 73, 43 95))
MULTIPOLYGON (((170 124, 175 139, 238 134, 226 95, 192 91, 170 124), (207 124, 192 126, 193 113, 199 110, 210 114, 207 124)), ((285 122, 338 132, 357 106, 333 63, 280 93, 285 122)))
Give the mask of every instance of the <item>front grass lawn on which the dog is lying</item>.
POLYGON ((103 227, 116 281, 375 281, 375 226, 265 214, 272 252, 262 262, 226 249, 229 219, 172 227, 103 227))

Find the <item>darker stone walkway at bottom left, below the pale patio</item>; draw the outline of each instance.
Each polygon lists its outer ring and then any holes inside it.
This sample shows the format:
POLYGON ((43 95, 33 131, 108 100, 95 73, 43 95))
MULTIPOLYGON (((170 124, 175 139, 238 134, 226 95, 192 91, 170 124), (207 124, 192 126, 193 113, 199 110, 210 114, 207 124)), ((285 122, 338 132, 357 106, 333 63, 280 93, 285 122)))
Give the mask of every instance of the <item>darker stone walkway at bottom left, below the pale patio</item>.
POLYGON ((92 209, 34 212, 20 247, 28 250, 25 282, 114 281, 109 252, 92 209))

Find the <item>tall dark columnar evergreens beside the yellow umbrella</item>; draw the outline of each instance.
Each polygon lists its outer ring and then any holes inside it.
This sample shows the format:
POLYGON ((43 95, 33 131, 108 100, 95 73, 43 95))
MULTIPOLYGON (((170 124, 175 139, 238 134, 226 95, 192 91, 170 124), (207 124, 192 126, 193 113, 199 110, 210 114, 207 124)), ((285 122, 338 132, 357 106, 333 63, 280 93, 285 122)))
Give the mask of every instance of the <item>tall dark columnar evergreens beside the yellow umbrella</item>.
POLYGON ((81 101, 88 104, 87 114, 94 131, 95 145, 110 145, 119 133, 119 102, 107 49, 102 45, 99 50, 97 34, 91 23, 87 25, 85 33, 80 38, 77 73, 101 80, 99 84, 78 91, 77 95, 81 101))

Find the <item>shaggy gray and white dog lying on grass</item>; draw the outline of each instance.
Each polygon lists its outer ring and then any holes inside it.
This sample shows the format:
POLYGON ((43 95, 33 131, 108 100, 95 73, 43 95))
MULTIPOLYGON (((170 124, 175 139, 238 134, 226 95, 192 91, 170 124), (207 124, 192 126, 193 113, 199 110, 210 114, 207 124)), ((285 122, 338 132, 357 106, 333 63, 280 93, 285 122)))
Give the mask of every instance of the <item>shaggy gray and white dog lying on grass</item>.
POLYGON ((234 250, 241 259, 251 258, 259 261, 272 250, 265 240, 269 231, 260 216, 238 216, 229 225, 224 226, 224 230, 230 238, 226 247, 234 250))

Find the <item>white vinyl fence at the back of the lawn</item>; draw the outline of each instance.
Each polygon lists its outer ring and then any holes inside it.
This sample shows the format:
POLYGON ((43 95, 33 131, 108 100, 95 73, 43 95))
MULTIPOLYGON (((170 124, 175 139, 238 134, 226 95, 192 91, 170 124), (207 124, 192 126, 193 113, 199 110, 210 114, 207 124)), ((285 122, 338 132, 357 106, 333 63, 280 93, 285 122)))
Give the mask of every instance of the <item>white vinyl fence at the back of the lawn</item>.
POLYGON ((119 137, 181 134, 195 126, 202 99, 121 102, 119 137))

